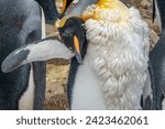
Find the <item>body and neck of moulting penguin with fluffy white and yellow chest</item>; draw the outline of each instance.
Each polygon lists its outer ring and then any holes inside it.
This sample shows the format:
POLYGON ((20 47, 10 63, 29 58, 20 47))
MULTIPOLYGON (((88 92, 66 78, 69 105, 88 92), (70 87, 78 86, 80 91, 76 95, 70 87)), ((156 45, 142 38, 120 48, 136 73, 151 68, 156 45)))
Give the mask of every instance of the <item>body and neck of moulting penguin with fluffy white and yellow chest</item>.
POLYGON ((87 3, 95 4, 79 15, 73 10, 57 23, 61 32, 67 18, 75 15, 85 21, 87 40, 74 40, 74 44, 86 42, 81 65, 75 58, 70 64, 67 86, 70 109, 142 109, 145 84, 151 85, 147 24, 136 9, 119 0, 81 1, 81 7, 87 3))

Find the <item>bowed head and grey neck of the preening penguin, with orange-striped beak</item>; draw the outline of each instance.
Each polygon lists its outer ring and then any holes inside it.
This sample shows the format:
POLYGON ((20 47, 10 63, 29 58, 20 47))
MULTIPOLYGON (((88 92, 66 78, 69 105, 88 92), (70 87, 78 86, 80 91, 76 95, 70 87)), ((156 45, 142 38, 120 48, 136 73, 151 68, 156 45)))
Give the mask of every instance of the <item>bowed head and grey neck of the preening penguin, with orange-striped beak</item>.
POLYGON ((61 39, 64 44, 75 53, 79 64, 82 64, 81 54, 86 43, 86 30, 81 13, 89 4, 94 4, 98 0, 79 0, 73 2, 66 10, 65 15, 55 22, 61 39))

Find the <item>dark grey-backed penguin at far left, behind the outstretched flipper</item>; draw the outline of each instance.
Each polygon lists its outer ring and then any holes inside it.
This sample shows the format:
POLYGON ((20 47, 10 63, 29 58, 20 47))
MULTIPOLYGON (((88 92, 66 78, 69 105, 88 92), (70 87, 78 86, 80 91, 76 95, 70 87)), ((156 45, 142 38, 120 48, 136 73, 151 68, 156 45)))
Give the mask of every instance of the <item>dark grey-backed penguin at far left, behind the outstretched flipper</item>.
MULTIPOLYGON (((1 64, 15 49, 42 39, 44 25, 42 10, 34 0, 0 1, 0 9, 1 64)), ((41 109, 44 94, 44 62, 22 66, 9 74, 0 71, 0 109, 41 109)))

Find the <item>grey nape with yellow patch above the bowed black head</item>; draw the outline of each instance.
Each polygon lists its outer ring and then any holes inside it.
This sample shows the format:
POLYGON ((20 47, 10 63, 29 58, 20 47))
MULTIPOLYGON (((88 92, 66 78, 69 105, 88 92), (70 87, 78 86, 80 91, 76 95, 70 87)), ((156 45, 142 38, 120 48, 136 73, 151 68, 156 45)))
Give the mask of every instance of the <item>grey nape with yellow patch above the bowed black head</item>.
MULTIPOLYGON (((65 0, 64 0, 65 1, 65 0)), ((70 17, 81 18, 82 11, 90 4, 98 2, 98 0, 79 0, 77 3, 73 2, 66 10, 65 17, 55 22, 56 28, 63 28, 67 19, 70 17)), ((65 4, 65 3, 64 3, 65 4)))

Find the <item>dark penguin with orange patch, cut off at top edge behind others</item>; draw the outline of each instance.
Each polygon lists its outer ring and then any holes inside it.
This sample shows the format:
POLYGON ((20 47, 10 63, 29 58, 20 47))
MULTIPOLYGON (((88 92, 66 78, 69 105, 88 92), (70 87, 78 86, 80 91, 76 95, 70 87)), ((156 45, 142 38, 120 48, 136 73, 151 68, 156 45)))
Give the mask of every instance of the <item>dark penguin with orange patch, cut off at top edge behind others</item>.
POLYGON ((63 0, 63 7, 58 11, 56 0, 35 0, 44 10, 46 23, 53 24, 57 18, 62 18, 65 10, 72 3, 73 0, 63 0))

